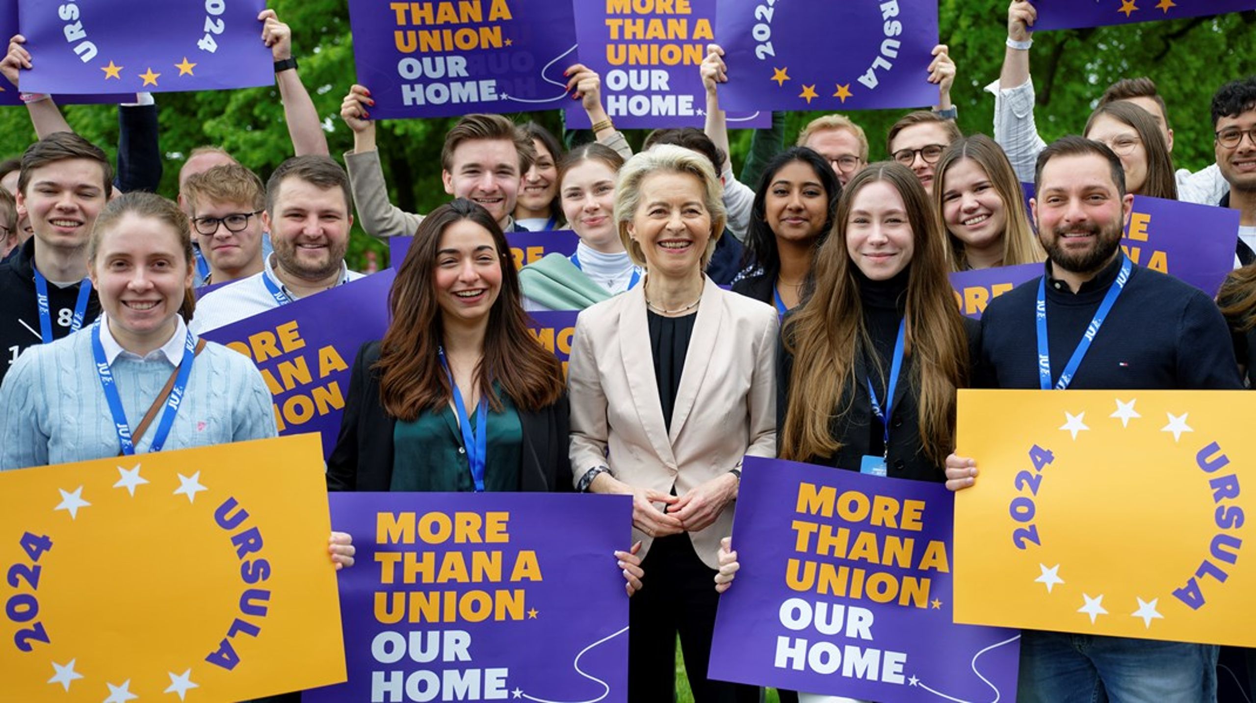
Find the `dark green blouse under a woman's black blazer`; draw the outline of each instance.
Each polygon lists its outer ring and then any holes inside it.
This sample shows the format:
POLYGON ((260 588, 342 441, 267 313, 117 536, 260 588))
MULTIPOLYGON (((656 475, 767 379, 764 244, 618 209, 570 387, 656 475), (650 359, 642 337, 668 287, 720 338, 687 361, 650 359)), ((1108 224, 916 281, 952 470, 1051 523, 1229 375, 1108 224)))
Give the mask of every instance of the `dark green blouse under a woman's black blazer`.
MULTIPOLYGON (((497 384, 494 390, 501 398, 501 412, 489 413, 489 456, 485 458, 485 491, 517 491, 519 468, 522 461, 524 431, 519 412, 510 397, 497 384)), ((476 413, 471 413, 475 427, 476 413)), ((393 428, 393 491, 445 491, 472 492, 475 481, 457 416, 446 404, 440 411, 426 411, 413 422, 397 421, 393 428)))

